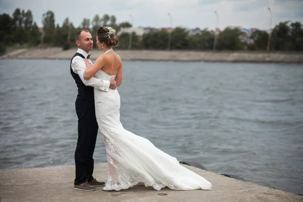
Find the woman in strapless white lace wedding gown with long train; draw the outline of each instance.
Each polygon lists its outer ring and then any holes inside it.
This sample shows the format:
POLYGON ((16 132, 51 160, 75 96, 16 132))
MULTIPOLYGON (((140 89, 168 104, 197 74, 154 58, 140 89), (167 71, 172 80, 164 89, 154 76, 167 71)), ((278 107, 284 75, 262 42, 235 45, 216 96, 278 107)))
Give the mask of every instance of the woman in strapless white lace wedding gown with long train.
MULTIPOLYGON (((122 61, 112 49, 118 44, 115 33, 111 27, 97 30, 96 43, 104 54, 92 66, 85 59, 84 79, 92 76, 103 80, 115 78, 117 86, 121 85, 122 61)), ((107 151, 108 180, 103 190, 119 191, 139 182, 157 190, 165 186, 175 190, 211 189, 212 184, 205 178, 181 166, 176 158, 158 149, 148 139, 123 128, 117 89, 106 92, 94 88, 94 100, 96 119, 107 151)))

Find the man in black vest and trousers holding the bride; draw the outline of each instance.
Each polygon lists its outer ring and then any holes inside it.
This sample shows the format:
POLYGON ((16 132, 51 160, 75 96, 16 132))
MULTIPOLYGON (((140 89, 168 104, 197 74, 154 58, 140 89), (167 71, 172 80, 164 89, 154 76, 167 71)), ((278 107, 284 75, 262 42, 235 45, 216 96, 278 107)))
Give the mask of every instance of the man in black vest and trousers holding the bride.
MULTIPOLYGON (((85 80, 83 73, 86 68, 84 58, 89 60, 89 51, 92 49, 92 37, 88 30, 79 30, 75 34, 77 53, 73 56, 70 72, 77 87, 76 114, 78 117, 78 140, 75 150, 76 178, 74 188, 85 191, 95 190, 95 186, 104 186, 105 182, 98 182, 93 178, 93 152, 98 133, 98 124, 95 117, 93 87, 108 91, 116 89, 116 81, 90 78, 85 80)), ((91 61, 89 60, 91 63, 91 61)))

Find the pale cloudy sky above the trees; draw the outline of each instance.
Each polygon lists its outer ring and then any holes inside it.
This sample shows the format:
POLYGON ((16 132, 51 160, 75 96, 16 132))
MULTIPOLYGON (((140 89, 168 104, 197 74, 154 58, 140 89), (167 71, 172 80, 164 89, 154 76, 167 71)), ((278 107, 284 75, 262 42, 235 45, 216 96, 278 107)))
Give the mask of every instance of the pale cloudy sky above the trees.
POLYGON ((0 0, 0 14, 12 15, 16 8, 31 10, 39 27, 43 13, 51 10, 60 26, 67 17, 78 27, 83 18, 109 14, 116 16, 117 23, 133 22, 134 27, 170 27, 170 13, 173 27, 214 30, 216 11, 220 29, 240 26, 269 30, 268 7, 272 27, 286 20, 303 23, 303 0, 0 0))

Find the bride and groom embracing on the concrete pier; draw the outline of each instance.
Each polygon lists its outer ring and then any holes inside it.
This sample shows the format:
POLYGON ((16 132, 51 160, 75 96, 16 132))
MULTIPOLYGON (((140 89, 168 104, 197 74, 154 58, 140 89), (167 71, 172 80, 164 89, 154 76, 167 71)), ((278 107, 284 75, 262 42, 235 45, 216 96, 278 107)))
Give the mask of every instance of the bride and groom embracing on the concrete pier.
POLYGON ((77 53, 71 60, 70 72, 78 87, 75 102, 78 117, 78 140, 75 150, 75 189, 104 191, 127 189, 139 182, 156 190, 205 189, 212 184, 180 165, 178 160, 158 149, 148 139, 124 129, 120 122, 122 61, 112 47, 118 44, 116 30, 100 27, 96 44, 104 54, 94 64, 89 59, 93 39, 88 30, 75 34, 77 53), (93 153, 98 129, 107 151, 108 179, 99 182, 93 177, 93 153))

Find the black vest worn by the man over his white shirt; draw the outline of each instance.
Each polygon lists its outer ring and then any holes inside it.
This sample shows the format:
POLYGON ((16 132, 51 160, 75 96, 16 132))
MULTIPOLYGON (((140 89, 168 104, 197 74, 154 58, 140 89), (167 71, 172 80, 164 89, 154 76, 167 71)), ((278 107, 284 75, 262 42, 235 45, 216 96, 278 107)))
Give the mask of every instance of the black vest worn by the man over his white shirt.
MULTIPOLYGON (((76 53, 72 60, 76 57, 76 56, 80 56, 81 58, 85 58, 82 54, 76 53)), ((73 76, 73 78, 75 79, 75 82, 77 84, 78 87, 78 95, 77 95, 77 99, 76 101, 94 101, 94 95, 93 95, 93 87, 92 86, 86 86, 84 85, 84 83, 82 82, 82 80, 80 79, 79 75, 76 74, 75 72, 73 72, 72 69, 72 60, 71 60, 71 65, 70 65, 70 71, 71 71, 71 75, 73 76)))

